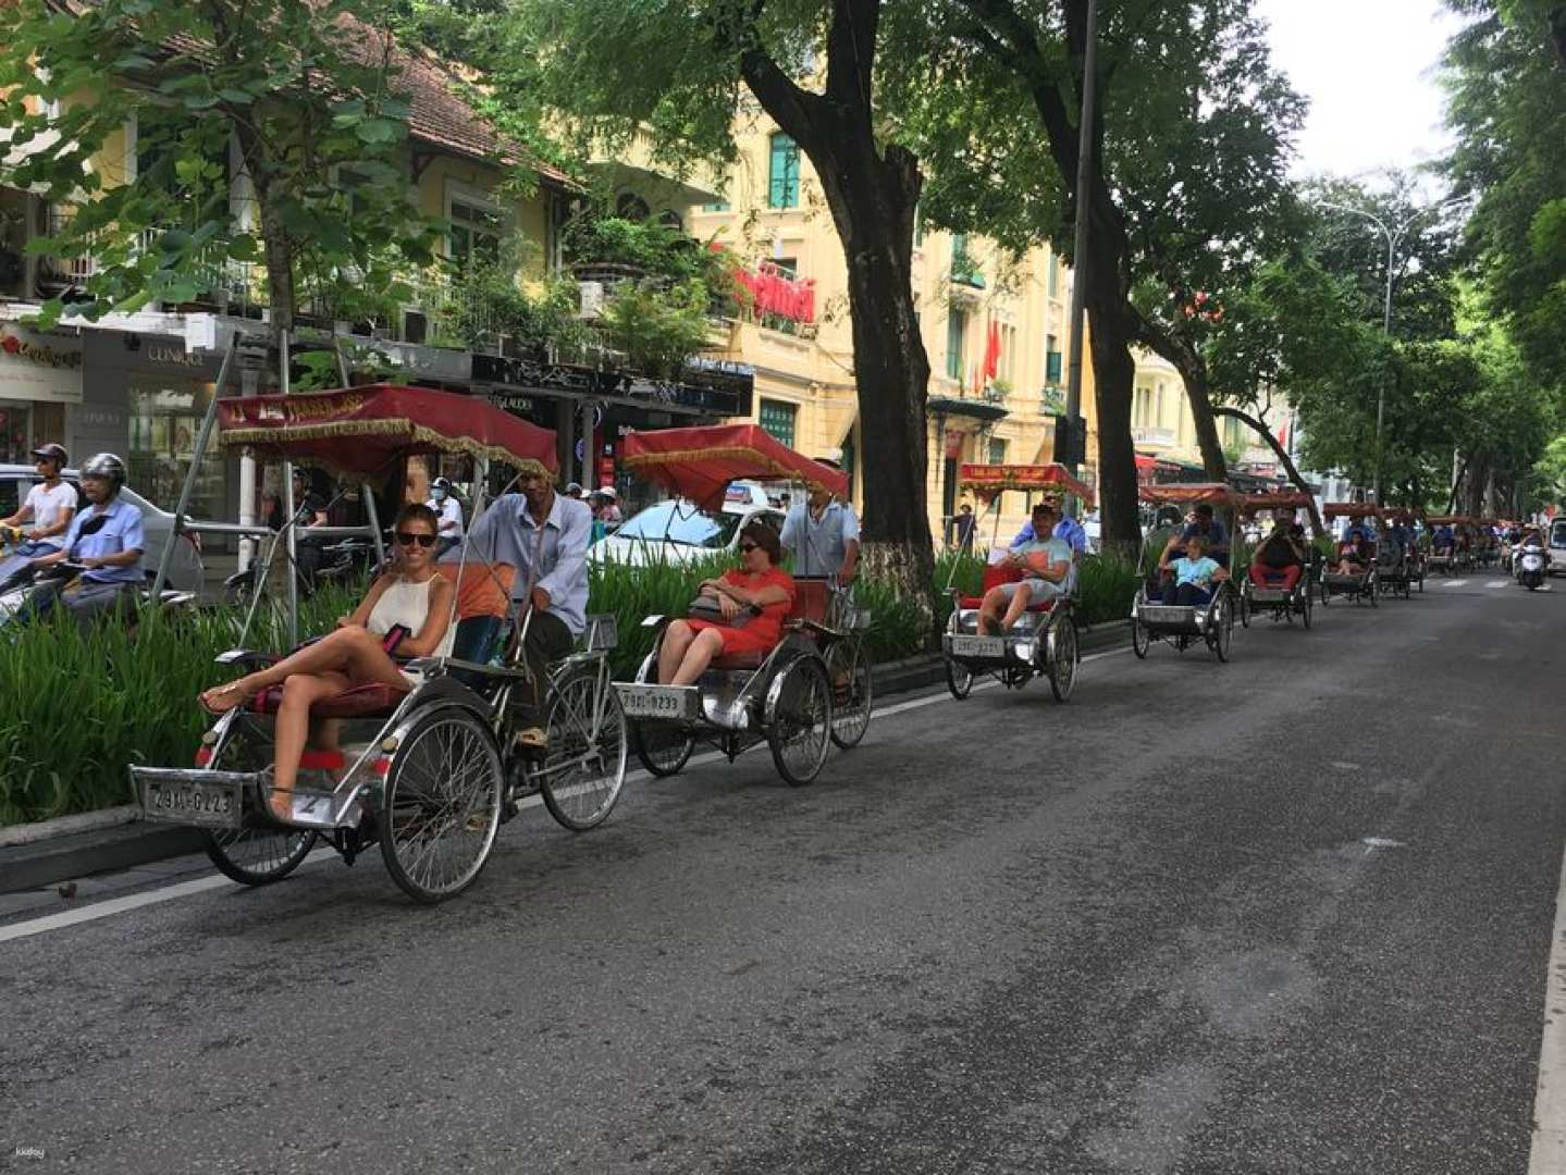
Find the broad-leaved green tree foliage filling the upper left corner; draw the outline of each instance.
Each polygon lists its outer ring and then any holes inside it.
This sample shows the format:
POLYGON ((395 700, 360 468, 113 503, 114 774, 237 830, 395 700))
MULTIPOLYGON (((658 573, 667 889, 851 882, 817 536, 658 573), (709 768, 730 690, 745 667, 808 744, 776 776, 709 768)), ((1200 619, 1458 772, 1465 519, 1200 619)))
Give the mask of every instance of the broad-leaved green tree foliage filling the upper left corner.
POLYGON ((189 302, 260 260, 283 332, 301 283, 352 318, 432 260, 438 225, 406 199, 401 58, 371 0, 16 0, 0 39, 5 178, 70 210, 49 252, 92 260, 45 322, 67 300, 88 319, 189 302))

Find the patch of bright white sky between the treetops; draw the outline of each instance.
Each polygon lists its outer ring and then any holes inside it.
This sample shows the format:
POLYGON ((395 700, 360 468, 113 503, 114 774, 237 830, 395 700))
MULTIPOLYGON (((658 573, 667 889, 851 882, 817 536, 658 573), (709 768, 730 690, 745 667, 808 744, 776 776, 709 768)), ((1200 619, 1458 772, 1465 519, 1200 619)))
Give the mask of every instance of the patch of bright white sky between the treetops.
POLYGON ((1256 13, 1272 25, 1273 61, 1311 100, 1297 175, 1350 177, 1445 152, 1433 67, 1460 22, 1441 0, 1256 0, 1256 13))

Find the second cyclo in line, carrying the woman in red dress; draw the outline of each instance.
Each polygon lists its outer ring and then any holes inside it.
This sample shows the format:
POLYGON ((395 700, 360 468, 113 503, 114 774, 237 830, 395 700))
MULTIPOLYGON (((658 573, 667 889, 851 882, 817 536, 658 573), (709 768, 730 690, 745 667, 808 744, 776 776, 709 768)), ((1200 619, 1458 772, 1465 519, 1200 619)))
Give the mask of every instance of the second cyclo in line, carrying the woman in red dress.
MULTIPOLYGON (((841 469, 813 462, 755 424, 636 432, 625 468, 717 512, 730 482, 794 482, 846 493, 841 469)), ((832 743, 855 746, 871 721, 871 663, 858 632, 869 613, 827 579, 796 579, 781 640, 766 652, 716 657, 694 685, 659 685, 658 654, 677 616, 647 616, 651 651, 630 682, 615 682, 633 745, 656 776, 678 773, 697 742, 730 762, 766 742, 778 774, 799 787, 816 779, 832 743)))

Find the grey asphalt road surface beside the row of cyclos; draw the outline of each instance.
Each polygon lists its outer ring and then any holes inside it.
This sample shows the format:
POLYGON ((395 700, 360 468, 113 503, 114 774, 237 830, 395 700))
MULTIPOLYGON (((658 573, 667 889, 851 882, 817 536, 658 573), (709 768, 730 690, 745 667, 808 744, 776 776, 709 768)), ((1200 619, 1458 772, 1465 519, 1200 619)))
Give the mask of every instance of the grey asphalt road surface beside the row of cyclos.
POLYGON ((1566 591, 1486 582, 3 942, 0 1167, 1521 1175, 1566 591))

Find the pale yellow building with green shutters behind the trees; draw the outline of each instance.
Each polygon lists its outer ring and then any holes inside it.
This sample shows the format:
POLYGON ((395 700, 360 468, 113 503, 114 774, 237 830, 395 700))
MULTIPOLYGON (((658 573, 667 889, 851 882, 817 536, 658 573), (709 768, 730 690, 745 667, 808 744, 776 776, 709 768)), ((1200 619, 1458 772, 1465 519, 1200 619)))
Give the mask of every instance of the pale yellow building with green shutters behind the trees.
MULTIPOLYGON (((843 244, 810 160, 766 117, 745 119, 739 163, 720 199, 695 211, 689 228, 733 249, 753 272, 800 283, 802 297, 792 314, 733 321, 717 350, 755 368, 752 419, 806 455, 839 458, 863 501, 861 454, 875 438, 858 424, 843 244), (797 313, 802 304, 810 314, 797 313)), ((1012 260, 979 238, 916 232, 913 294, 930 360, 927 508, 940 538, 944 521, 972 501, 958 491, 960 463, 1054 458, 1052 416, 1065 408, 1071 277, 1048 247, 1012 260), (985 379, 991 336, 998 355, 994 375, 985 379)), ((1090 365, 1084 375, 1092 458, 1090 365)), ((1092 466, 1085 477, 1092 482, 1092 466)), ((1007 494, 1002 508, 1002 532, 1015 530, 1026 513, 1023 496, 1007 494)))

